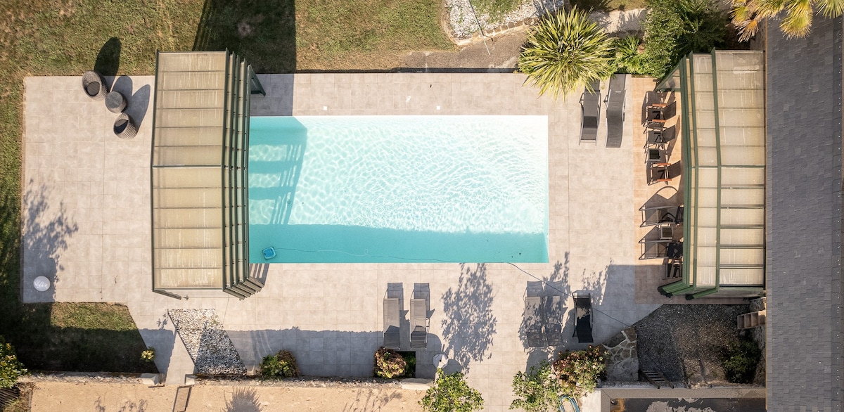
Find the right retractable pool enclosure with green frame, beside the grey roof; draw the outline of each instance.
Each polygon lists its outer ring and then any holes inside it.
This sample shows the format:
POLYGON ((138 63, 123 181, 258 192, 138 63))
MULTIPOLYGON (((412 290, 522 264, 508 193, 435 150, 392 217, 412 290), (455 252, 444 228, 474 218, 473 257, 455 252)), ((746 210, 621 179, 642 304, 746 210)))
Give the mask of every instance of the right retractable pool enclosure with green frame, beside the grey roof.
POLYGON ((683 279, 663 295, 756 296, 765 286, 765 54, 690 54, 659 84, 682 102, 683 279))

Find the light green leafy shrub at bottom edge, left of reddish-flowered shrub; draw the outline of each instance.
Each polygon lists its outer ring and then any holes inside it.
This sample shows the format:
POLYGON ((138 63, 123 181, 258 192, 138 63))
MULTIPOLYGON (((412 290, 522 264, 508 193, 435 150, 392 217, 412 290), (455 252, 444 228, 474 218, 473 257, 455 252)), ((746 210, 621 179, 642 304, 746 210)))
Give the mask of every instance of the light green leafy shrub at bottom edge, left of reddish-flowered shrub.
POLYGON ((523 409, 526 412, 545 412, 555 409, 560 404, 562 387, 560 380, 551 369, 548 361, 531 366, 530 371, 518 371, 513 377, 513 394, 516 398, 510 409, 523 409))

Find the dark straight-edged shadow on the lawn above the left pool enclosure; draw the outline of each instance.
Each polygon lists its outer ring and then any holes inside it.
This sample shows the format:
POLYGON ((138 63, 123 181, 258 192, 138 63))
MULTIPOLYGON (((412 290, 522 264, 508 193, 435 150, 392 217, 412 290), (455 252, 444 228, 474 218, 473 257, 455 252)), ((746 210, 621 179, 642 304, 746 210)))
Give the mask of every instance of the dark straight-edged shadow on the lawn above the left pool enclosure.
POLYGON ((193 51, 230 50, 257 73, 296 69, 295 0, 206 0, 193 51))

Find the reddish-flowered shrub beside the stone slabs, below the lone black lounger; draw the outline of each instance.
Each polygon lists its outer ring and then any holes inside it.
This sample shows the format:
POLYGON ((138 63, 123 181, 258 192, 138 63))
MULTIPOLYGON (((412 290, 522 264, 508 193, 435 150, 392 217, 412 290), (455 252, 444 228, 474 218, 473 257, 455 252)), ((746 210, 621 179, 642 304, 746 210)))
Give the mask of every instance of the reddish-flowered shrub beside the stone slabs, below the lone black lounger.
POLYGON ((586 350, 560 352, 554 362, 554 371, 560 378, 563 393, 580 398, 592 393, 598 384, 598 377, 607 370, 603 360, 603 351, 598 346, 589 346, 586 350))

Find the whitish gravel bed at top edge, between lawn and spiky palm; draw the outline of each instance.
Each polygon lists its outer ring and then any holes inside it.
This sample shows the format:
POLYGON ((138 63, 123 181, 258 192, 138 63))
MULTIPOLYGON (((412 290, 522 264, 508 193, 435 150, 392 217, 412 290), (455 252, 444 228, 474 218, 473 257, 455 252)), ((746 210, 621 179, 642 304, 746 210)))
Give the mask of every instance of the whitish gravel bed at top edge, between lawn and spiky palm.
MULTIPOLYGON (((555 11, 563 7, 565 0, 524 0, 512 13, 502 16, 500 19, 490 19, 488 14, 473 13, 472 4, 469 0, 446 0, 448 10, 448 22, 458 39, 471 37, 478 32, 479 24, 484 31, 493 30, 496 27, 508 23, 519 22, 524 19, 538 17, 546 11, 555 11)), ((474 9, 477 12, 477 9, 474 9)))

